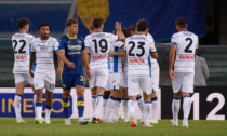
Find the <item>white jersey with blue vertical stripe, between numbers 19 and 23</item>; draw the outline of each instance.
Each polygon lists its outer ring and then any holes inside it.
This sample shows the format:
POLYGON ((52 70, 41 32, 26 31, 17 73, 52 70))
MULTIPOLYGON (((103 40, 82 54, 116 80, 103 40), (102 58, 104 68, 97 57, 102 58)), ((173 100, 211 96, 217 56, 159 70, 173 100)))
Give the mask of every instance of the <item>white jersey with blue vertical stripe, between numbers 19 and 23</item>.
MULTIPOLYGON (((124 52, 121 47, 124 45, 124 42, 117 41, 111 44, 111 50, 114 52, 124 52)), ((110 69, 109 73, 122 73, 122 57, 111 56, 109 57, 110 69)))

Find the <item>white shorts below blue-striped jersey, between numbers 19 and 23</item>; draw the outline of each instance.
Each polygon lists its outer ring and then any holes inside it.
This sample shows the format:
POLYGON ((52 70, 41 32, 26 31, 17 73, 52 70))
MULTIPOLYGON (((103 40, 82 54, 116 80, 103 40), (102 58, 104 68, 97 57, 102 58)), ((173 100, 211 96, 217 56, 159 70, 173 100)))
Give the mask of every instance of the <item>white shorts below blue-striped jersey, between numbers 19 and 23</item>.
POLYGON ((120 90, 121 86, 121 73, 109 73, 107 91, 120 90))

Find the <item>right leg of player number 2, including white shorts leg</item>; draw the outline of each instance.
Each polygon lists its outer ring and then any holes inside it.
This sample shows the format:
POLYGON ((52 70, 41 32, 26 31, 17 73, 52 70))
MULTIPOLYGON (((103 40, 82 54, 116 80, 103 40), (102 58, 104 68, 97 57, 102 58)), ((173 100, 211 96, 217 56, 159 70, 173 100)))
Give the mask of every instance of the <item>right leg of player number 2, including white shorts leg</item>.
POLYGON ((190 93, 193 93, 193 73, 185 73, 183 76, 183 127, 189 127, 188 117, 191 108, 190 93))

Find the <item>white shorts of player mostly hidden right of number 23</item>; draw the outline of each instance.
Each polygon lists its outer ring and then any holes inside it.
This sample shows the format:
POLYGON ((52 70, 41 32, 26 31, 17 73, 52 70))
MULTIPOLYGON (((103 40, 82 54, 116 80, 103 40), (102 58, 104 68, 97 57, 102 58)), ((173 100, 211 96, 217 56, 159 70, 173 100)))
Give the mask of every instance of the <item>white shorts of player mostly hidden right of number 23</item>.
POLYGON ((159 91, 159 77, 160 77, 159 67, 151 69, 152 89, 155 92, 159 91))

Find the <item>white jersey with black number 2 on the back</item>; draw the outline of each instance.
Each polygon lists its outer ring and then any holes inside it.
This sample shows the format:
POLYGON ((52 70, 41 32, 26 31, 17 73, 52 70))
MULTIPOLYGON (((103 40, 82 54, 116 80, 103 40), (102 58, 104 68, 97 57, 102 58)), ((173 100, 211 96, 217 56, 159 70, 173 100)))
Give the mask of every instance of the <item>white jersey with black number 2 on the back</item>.
POLYGON ((175 72, 195 72, 195 52, 199 47, 198 37, 189 31, 174 33, 171 46, 176 46, 175 72))

